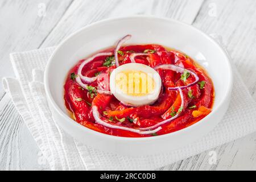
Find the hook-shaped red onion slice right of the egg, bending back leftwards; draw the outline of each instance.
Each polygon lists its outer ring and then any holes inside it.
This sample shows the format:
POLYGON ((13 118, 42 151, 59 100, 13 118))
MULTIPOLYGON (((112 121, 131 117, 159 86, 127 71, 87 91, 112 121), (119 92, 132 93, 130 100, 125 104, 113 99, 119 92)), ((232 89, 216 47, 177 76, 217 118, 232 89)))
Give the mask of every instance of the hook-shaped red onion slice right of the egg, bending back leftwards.
POLYGON ((196 73, 192 72, 192 71, 189 71, 188 69, 185 69, 185 68, 181 68, 181 67, 177 67, 173 64, 162 64, 162 65, 159 65, 159 66, 156 66, 154 69, 170 69, 172 71, 175 71, 175 72, 179 72, 179 73, 184 73, 185 70, 187 70, 187 72, 191 75, 193 75, 195 78, 196 78, 196 81, 192 82, 191 84, 188 84, 186 86, 177 86, 177 87, 169 87, 168 90, 179 90, 180 89, 185 89, 185 88, 188 88, 188 87, 191 87, 191 86, 194 86, 197 84, 197 82, 199 82, 199 77, 196 75, 196 73))

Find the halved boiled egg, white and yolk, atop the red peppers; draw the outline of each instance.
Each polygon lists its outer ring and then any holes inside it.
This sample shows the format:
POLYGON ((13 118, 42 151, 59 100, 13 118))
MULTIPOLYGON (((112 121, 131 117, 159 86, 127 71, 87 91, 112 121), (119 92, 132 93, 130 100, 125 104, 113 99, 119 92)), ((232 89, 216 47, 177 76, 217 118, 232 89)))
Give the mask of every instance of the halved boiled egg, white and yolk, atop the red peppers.
POLYGON ((110 91, 115 98, 134 107, 150 105, 158 100, 161 85, 158 72, 139 63, 121 65, 110 75, 110 91))

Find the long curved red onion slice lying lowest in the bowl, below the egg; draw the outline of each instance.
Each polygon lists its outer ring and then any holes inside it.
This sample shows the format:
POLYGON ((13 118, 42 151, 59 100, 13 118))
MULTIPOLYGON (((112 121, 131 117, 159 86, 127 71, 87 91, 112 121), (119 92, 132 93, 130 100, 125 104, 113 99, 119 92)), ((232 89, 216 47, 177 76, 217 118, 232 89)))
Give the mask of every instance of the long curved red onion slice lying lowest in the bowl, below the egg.
POLYGON ((100 118, 100 113, 98 113, 98 107, 97 107, 97 106, 92 106, 92 111, 93 111, 93 117, 94 117, 94 119, 95 119, 95 121, 96 121, 97 123, 99 123, 100 125, 103 125, 103 126, 112 128, 112 129, 119 129, 119 130, 131 131, 131 132, 133 132, 133 133, 138 133, 138 134, 141 134, 141 135, 154 134, 154 133, 156 133, 156 132, 158 132, 159 130, 162 129, 162 127, 158 127, 158 128, 155 129, 155 130, 141 131, 141 130, 138 130, 138 129, 131 129, 131 128, 129 128, 129 127, 123 127, 123 126, 112 125, 112 124, 110 124, 110 123, 106 123, 105 121, 103 121, 103 120, 100 118))

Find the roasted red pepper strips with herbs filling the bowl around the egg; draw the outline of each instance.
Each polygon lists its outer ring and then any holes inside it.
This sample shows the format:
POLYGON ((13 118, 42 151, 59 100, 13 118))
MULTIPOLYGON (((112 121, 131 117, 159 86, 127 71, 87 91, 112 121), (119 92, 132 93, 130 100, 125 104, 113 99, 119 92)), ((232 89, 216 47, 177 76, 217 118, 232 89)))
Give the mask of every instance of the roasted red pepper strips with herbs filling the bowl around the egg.
MULTIPOLYGON (((104 50, 114 52, 114 48, 104 50)), ((113 125, 139 129, 154 126, 164 119, 179 117, 162 125, 162 130, 154 135, 163 135, 184 129, 193 123, 200 121, 210 113, 214 101, 213 83, 203 68, 182 52, 166 49, 157 44, 135 45, 121 47, 118 52, 119 64, 131 63, 131 53, 148 53, 148 56, 135 57, 136 63, 149 65, 154 68, 160 64, 175 64, 189 69, 199 76, 200 81, 194 86, 182 90, 184 96, 184 108, 181 106, 179 91, 169 91, 168 88, 188 85, 195 81, 195 77, 188 75, 185 80, 181 79, 181 73, 159 69, 158 73, 163 82, 163 90, 158 100, 153 105, 139 107, 124 106, 114 96, 97 93, 99 90, 109 90, 109 76, 115 69, 113 56, 96 57, 91 63, 82 69, 82 75, 88 77, 97 76, 97 81, 89 84, 89 90, 82 88, 76 83, 76 73, 79 64, 71 69, 65 82, 64 99, 65 105, 71 111, 76 122, 89 129, 120 137, 149 137, 131 131, 110 129, 98 124, 92 113, 92 106, 97 106, 101 119, 113 125)))

